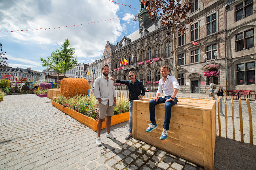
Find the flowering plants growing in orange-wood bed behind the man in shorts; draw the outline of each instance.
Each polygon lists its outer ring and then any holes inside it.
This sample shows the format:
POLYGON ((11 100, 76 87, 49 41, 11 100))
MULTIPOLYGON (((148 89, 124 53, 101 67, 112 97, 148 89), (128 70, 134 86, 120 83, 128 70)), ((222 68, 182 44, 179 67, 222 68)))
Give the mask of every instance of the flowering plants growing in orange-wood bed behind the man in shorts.
MULTIPOLYGON (((63 105, 64 107, 68 107, 74 111, 77 111, 85 116, 89 116, 94 118, 95 120, 99 119, 99 109, 98 104, 94 96, 74 96, 70 98, 66 98, 64 96, 57 96, 53 98, 53 101, 63 105)), ((129 103, 125 101, 120 101, 116 103, 116 107, 114 107, 114 115, 118 115, 120 113, 125 113, 129 111, 129 103)))

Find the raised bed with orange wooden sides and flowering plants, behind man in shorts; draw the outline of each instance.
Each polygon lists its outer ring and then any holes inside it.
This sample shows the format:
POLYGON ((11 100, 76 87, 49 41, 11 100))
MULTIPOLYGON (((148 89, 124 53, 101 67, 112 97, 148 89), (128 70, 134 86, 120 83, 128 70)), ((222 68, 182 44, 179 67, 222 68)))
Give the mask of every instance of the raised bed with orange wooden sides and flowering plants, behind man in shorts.
MULTIPOLYGON (((86 96, 74 96, 69 99, 58 96, 52 100, 52 105, 85 126, 93 129, 93 131, 97 131, 99 113, 94 96, 89 98, 86 96)), ((128 102, 118 101, 117 107, 114 107, 114 116, 111 118, 111 126, 129 120, 129 116, 128 102)), ((102 129, 104 128, 106 128, 105 120, 102 123, 102 129)))

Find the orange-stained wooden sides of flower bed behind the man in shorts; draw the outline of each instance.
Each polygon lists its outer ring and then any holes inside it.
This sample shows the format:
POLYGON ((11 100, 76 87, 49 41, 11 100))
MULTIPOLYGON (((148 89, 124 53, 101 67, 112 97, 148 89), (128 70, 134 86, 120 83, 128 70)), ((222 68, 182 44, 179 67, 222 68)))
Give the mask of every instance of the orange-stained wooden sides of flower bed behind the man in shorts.
MULTIPOLYGON (((60 105, 59 103, 56 103, 54 101, 51 101, 51 104, 53 106, 55 106, 57 109, 59 109, 60 111, 66 113, 67 115, 76 119, 78 122, 81 122, 85 126, 90 127, 91 129, 93 129, 93 131, 97 131, 97 122, 98 122, 98 120, 95 120, 93 118, 85 116, 85 115, 83 115, 79 112, 76 112, 72 109, 69 109, 68 107, 63 107, 63 105, 60 105)), ((119 124, 121 122, 125 122, 125 121, 129 120, 129 118, 130 118, 130 113, 129 112, 121 113, 119 115, 114 115, 111 118, 111 126, 115 125, 115 124, 119 124)), ((105 120, 102 123, 102 129, 104 129, 104 128, 106 128, 106 121, 105 120)))

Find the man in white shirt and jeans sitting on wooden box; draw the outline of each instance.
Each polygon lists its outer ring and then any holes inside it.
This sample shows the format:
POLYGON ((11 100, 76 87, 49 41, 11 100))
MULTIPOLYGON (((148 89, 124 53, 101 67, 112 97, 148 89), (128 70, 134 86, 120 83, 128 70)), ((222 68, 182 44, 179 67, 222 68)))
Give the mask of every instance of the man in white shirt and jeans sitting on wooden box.
POLYGON ((155 122, 155 105, 159 103, 165 103, 165 121, 163 123, 163 132, 161 134, 160 139, 165 140, 167 139, 169 124, 171 120, 171 109, 172 106, 177 104, 178 96, 177 92, 180 89, 180 85, 177 79, 174 76, 168 75, 169 70, 167 66, 161 67, 161 75, 163 78, 159 80, 158 90, 156 96, 153 100, 149 102, 149 113, 150 113, 150 124, 146 132, 151 132, 152 130, 157 128, 155 122), (163 92, 163 96, 159 97, 163 92))

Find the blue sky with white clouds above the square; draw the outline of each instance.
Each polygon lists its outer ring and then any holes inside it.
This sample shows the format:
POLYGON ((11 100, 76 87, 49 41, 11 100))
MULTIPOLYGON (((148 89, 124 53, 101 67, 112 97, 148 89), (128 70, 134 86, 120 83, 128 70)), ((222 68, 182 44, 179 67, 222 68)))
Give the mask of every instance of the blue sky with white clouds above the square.
POLYGON ((78 62, 91 63, 102 57, 106 41, 116 45, 138 30, 139 6, 139 0, 0 0, 0 42, 13 68, 44 70, 40 57, 67 38, 78 62))

